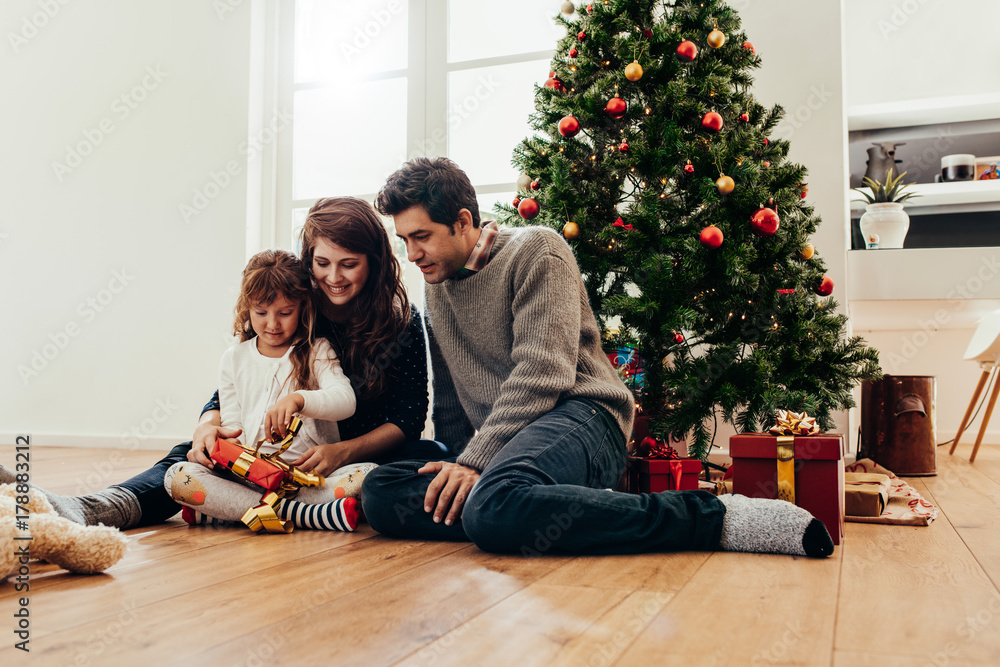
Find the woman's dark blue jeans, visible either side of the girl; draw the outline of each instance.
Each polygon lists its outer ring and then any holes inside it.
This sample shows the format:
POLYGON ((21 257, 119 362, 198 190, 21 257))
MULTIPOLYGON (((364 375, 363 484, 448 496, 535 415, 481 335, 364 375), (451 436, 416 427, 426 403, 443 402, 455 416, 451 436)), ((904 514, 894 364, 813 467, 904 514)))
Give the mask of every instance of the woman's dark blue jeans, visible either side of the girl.
MULTIPOLYGON (((189 451, 191 451, 191 443, 182 442, 171 449, 169 454, 154 463, 149 469, 125 480, 121 484, 115 484, 115 486, 120 486, 123 489, 131 491, 139 501, 142 518, 133 528, 155 526, 181 511, 181 506, 174 502, 174 499, 163 488, 163 477, 167 474, 167 469, 170 466, 181 461, 187 461, 187 453, 189 451)), ((440 442, 434 440, 414 440, 400 445, 380 459, 375 459, 375 463, 383 464, 414 457, 440 458, 441 456, 447 456, 447 454, 448 449, 440 442)))

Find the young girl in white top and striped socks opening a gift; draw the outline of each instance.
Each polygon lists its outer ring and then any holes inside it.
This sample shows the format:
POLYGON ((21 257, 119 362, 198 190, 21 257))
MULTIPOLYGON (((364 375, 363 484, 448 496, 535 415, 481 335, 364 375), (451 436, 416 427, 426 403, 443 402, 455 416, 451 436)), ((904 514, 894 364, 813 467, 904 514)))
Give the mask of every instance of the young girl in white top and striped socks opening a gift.
MULTIPOLYGON (((222 426, 243 431, 241 444, 261 439, 263 454, 277 451, 292 416, 302 428, 282 458, 294 461, 311 447, 338 442, 337 421, 354 414, 355 396, 336 354, 324 338, 313 339, 315 307, 309 273, 293 254, 265 250, 243 271, 236 303, 235 333, 243 341, 225 351, 219 364, 222 426)), ((360 480, 374 464, 341 468, 323 487, 305 487, 276 508, 281 519, 303 528, 352 531, 357 527, 360 480), (337 481, 335 481, 337 480, 337 481)), ((220 470, 222 468, 220 467, 220 470)), ((188 523, 239 521, 260 503, 261 491, 228 472, 222 477, 190 461, 174 464, 164 479, 170 496, 184 506, 188 523)))

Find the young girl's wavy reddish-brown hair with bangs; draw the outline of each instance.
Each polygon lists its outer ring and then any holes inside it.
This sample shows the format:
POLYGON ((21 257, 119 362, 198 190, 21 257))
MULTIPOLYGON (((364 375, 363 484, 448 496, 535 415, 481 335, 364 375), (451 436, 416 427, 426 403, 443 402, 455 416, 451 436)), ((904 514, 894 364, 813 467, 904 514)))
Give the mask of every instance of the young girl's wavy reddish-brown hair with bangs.
POLYGON ((286 250, 264 250, 250 258, 243 269, 240 298, 236 301, 234 333, 241 341, 257 335, 250 324, 250 309, 257 305, 269 306, 279 296, 299 303, 299 325, 291 343, 292 390, 316 389, 311 364, 313 325, 316 308, 312 300, 312 281, 299 258, 286 250))

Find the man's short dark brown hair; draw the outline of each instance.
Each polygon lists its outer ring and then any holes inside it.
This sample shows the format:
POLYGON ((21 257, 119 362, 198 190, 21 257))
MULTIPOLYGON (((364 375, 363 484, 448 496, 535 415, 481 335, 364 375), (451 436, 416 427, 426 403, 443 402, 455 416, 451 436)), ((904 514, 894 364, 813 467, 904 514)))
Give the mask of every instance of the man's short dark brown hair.
POLYGON ((472 214, 472 226, 479 227, 479 202, 472 181, 446 157, 407 160, 375 197, 375 208, 382 215, 396 215, 418 205, 431 220, 451 228, 452 234, 463 208, 472 214))

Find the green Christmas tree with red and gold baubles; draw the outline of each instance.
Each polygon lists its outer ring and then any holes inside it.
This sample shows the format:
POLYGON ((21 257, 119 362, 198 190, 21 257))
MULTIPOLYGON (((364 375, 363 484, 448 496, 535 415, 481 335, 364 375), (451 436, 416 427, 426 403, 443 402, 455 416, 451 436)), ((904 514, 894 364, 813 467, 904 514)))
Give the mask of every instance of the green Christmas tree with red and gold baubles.
POLYGON ((753 98, 760 58, 739 16, 713 0, 596 0, 556 20, 567 34, 501 223, 568 240, 608 347, 642 355, 653 434, 689 435, 702 458, 720 418, 764 430, 784 408, 830 429, 878 355, 825 298, 806 172, 769 137, 782 110, 753 98))

